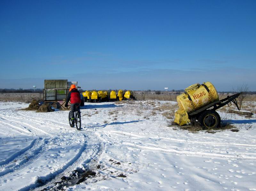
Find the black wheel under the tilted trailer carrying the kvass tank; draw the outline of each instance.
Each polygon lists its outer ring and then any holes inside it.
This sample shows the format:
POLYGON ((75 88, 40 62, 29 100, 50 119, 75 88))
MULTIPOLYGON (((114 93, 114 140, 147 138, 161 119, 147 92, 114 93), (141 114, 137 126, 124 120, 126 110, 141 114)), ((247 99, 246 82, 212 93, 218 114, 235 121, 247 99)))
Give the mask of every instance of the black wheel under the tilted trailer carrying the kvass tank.
POLYGON ((214 110, 205 110, 198 117, 198 121, 205 128, 217 128, 220 126, 220 115, 214 110))

